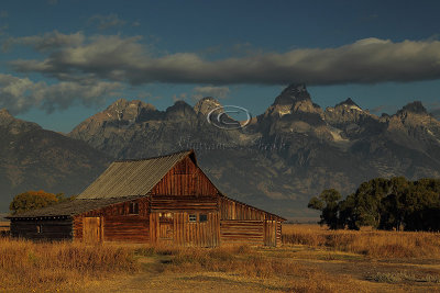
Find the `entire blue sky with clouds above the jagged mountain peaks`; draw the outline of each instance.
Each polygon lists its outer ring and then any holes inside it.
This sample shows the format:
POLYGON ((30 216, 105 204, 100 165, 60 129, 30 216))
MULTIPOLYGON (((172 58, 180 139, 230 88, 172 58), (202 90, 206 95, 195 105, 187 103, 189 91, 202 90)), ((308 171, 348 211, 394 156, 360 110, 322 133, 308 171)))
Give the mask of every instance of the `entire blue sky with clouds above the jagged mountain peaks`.
POLYGON ((264 112, 304 81, 322 108, 440 108, 438 1, 9 1, 0 108, 69 132, 119 98, 213 95, 264 112))

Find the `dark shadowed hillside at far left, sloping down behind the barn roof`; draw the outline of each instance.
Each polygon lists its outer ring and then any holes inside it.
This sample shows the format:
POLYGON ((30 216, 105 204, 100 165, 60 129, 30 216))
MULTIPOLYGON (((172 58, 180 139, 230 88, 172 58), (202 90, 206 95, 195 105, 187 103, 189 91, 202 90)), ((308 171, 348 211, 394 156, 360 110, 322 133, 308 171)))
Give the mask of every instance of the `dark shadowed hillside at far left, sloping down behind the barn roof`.
POLYGON ((109 164, 110 157, 81 140, 43 129, 0 111, 0 211, 26 190, 80 192, 109 164))

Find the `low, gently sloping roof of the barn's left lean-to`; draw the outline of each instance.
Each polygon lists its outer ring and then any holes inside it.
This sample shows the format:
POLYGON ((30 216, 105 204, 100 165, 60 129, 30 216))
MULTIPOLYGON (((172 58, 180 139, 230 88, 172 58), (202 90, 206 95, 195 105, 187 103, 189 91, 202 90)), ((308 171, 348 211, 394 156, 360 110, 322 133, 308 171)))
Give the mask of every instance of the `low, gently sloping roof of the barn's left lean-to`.
POLYGON ((85 212, 94 211, 96 209, 109 206, 111 204, 132 201, 139 198, 143 196, 138 195, 138 196, 117 198, 117 199, 73 200, 37 210, 28 211, 16 215, 10 215, 8 216, 8 218, 73 216, 85 212))

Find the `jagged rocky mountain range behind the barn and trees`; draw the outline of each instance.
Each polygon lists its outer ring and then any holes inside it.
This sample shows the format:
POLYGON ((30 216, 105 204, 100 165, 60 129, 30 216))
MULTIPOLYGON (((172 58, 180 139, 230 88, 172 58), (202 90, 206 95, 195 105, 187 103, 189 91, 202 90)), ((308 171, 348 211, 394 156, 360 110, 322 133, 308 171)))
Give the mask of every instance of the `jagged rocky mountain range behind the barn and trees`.
POLYGON ((211 97, 166 111, 120 99, 67 135, 3 110, 1 202, 28 189, 77 193, 112 159, 188 148, 222 192, 287 218, 315 217, 307 202, 327 188, 348 194, 375 177, 440 177, 440 122, 420 102, 376 116, 352 99, 321 109, 305 84, 290 84, 233 129, 207 120, 221 106, 211 97))

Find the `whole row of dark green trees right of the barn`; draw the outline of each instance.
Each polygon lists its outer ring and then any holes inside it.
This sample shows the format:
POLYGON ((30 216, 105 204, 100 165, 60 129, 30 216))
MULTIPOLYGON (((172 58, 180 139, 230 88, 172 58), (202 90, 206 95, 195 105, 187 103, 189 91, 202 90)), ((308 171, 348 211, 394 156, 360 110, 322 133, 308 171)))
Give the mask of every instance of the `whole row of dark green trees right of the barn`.
POLYGON ((330 229, 440 230, 440 179, 409 181, 404 177, 363 182, 342 200, 327 189, 308 207, 321 211, 319 224, 330 229))

